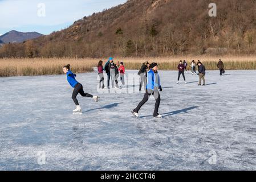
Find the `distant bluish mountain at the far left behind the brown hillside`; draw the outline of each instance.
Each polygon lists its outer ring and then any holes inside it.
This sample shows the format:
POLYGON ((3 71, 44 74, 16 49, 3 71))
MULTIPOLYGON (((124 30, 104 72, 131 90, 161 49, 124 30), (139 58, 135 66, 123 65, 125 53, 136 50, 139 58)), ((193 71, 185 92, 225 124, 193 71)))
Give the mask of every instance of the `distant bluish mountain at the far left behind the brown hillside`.
POLYGON ((0 36, 0 44, 22 43, 25 40, 35 39, 39 36, 43 36, 43 34, 39 34, 38 32, 18 32, 13 30, 0 36))

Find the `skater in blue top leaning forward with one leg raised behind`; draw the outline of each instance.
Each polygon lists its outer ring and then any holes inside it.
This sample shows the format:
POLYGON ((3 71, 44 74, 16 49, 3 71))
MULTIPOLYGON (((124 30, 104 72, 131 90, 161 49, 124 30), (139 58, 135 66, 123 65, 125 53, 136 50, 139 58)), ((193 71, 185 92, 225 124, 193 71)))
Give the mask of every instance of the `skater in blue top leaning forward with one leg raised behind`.
POLYGON ((99 101, 99 96, 92 96, 91 94, 84 93, 83 85, 80 84, 78 81, 76 81, 75 77, 76 75, 71 72, 70 70, 70 64, 63 67, 63 72, 67 75, 67 81, 68 83, 74 88, 73 94, 72 94, 72 100, 75 102, 76 109, 73 110, 73 113, 82 113, 82 109, 78 103, 78 100, 76 96, 80 93, 83 97, 91 97, 95 102, 99 101))

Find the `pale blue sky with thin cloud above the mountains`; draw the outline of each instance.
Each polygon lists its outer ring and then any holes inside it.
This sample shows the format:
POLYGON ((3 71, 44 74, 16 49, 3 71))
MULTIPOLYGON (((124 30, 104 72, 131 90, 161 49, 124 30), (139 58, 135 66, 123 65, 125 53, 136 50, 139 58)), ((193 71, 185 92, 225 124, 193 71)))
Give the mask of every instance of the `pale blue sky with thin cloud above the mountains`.
POLYGON ((11 30, 50 34, 127 0, 0 0, 0 35, 11 30))

